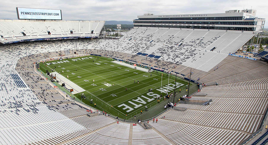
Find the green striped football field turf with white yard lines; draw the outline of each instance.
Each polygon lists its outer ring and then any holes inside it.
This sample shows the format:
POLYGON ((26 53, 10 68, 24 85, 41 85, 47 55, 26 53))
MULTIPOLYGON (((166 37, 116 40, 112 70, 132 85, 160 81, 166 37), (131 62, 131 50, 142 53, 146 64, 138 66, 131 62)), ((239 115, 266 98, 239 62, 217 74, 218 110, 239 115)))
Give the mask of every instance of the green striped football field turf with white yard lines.
MULTIPOLYGON (((86 57, 94 58, 77 60, 76 62, 71 59, 64 59, 68 60, 69 62, 51 64, 47 65, 47 67, 45 64, 40 63, 40 69, 43 72, 46 72, 45 70, 50 71, 50 68, 54 68, 56 66, 56 72, 61 72, 60 74, 66 78, 68 75, 69 80, 86 90, 79 94, 75 94, 77 98, 81 99, 81 94, 84 93, 86 99, 82 99, 82 101, 85 104, 95 107, 94 103, 96 103, 96 109, 100 109, 101 111, 104 110, 115 116, 122 118, 126 116, 133 116, 139 113, 141 110, 144 110, 145 105, 148 107, 152 106, 152 104, 156 104, 156 99, 148 102, 148 99, 145 99, 141 96, 146 96, 149 99, 153 98, 152 96, 147 95, 148 89, 151 88, 153 89, 152 92, 154 92, 154 94, 160 95, 160 91, 157 91, 156 89, 161 87, 162 72, 143 72, 113 63, 111 62, 113 60, 109 58, 97 58, 96 56, 86 57), (62 71, 64 71, 64 73, 62 73, 62 71), (95 81, 93 82, 93 80, 95 81), (137 83, 138 80, 139 83, 137 83), (133 101, 133 99, 138 99, 138 97, 140 97, 142 100, 133 101), (93 99, 92 104, 90 103, 90 99, 93 99), (134 108, 135 106, 129 103, 129 101, 137 105, 141 104, 141 106, 134 108), (123 108, 125 106, 118 107, 121 104, 126 104, 133 108, 133 110, 126 112, 128 109, 124 110, 123 108)), ((82 58, 84 57, 79 57, 79 59, 82 58)), ((59 60, 50 62, 59 62, 59 60)), ((162 86, 167 85, 168 82, 175 84, 173 77, 170 77, 168 80, 167 74, 163 73, 162 86)), ((181 78, 177 78, 176 82, 183 84, 183 86, 177 88, 176 90, 188 84, 188 82, 181 78)), ((170 93, 171 92, 174 92, 174 90, 170 91, 170 93)), ((165 94, 166 93, 163 92, 162 96, 164 97, 165 94)))

